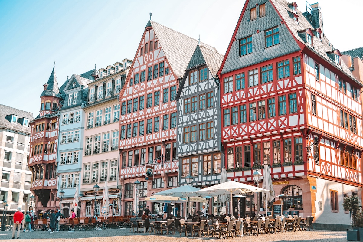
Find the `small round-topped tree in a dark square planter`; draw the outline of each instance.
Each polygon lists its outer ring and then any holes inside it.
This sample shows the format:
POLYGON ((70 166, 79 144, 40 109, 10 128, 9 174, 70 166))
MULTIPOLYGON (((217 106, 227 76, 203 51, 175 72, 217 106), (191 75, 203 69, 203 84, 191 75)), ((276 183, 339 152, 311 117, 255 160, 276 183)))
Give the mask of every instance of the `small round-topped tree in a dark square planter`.
POLYGON ((352 220, 352 229, 347 229, 347 240, 359 241, 359 229, 353 229, 353 225, 359 225, 358 223, 360 216, 356 217, 358 215, 356 212, 360 210, 358 196, 350 195, 344 197, 343 208, 344 210, 348 210, 350 212, 350 217, 352 220), (356 214, 356 216, 354 216, 354 214, 356 214), (357 224, 355 224, 355 220, 357 224))

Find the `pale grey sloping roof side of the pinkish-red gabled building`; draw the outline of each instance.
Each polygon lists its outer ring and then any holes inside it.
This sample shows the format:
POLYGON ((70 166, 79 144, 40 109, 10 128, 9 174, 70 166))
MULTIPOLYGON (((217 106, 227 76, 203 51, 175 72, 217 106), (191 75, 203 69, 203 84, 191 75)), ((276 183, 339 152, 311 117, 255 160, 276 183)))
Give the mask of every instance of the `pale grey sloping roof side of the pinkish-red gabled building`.
MULTIPOLYGON (((170 63, 171 69, 178 77, 183 77, 189 60, 198 44, 198 40, 193 39, 185 34, 170 29, 155 21, 150 20, 146 27, 152 27, 159 44, 170 63)), ((214 47, 202 43, 206 48, 217 51, 214 47)))

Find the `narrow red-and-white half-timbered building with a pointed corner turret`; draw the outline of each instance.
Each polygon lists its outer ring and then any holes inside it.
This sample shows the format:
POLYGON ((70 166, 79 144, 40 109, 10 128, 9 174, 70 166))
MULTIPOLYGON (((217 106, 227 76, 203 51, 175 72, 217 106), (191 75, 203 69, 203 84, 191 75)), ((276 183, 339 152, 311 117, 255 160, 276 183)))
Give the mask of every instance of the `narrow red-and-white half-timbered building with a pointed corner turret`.
POLYGON ((58 111, 62 101, 53 67, 48 82, 40 95, 39 115, 30 122, 30 157, 28 167, 32 171, 30 190, 34 193, 34 213, 55 209, 57 202, 57 147, 58 111))

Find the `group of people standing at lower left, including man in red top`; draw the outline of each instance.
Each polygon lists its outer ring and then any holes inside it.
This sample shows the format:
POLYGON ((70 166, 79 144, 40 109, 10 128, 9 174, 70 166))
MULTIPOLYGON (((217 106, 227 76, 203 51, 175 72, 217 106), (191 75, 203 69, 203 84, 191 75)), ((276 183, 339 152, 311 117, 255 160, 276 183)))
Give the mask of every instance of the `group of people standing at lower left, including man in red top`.
MULTIPOLYGON (((29 232, 34 231, 34 225, 33 222, 36 218, 35 214, 33 213, 33 210, 31 210, 30 212, 25 212, 25 216, 22 212, 20 212, 21 208, 17 208, 17 212, 14 213, 14 217, 13 217, 13 221, 14 221, 14 225, 13 225, 13 234, 12 234, 12 238, 15 239, 15 231, 17 230, 17 238, 20 238, 20 230, 21 230, 21 224, 24 223, 23 226, 23 232, 26 232, 27 229, 29 229, 29 232)), ((71 210, 72 214, 69 218, 76 218, 76 213, 74 213, 74 209, 71 210)), ((43 215, 42 215, 42 219, 48 219, 49 218, 49 227, 50 229, 48 230, 51 234, 53 234, 54 232, 58 232, 59 231, 59 221, 58 221, 58 217, 61 218, 66 218, 60 211, 59 209, 56 209, 56 211, 54 212, 54 210, 50 210, 49 213, 47 213, 45 210, 43 211, 43 215)), ((43 225, 43 229, 46 229, 46 224, 43 225)))

